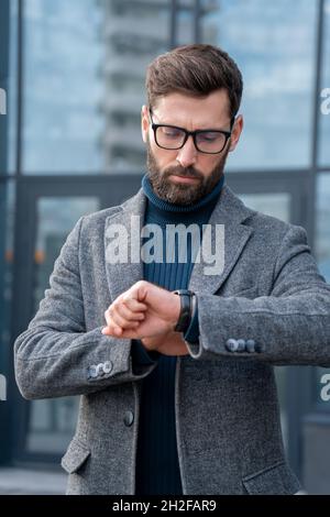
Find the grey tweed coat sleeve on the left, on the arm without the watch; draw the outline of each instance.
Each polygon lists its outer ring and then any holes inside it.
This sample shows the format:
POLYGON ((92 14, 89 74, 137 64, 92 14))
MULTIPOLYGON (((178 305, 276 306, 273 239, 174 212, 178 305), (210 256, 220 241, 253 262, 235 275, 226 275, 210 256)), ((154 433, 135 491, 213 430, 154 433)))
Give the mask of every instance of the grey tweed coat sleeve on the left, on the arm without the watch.
POLYGON ((79 274, 81 218, 64 244, 36 316, 14 343, 19 388, 25 398, 82 395, 145 377, 156 363, 132 364, 131 340, 86 331, 79 274))

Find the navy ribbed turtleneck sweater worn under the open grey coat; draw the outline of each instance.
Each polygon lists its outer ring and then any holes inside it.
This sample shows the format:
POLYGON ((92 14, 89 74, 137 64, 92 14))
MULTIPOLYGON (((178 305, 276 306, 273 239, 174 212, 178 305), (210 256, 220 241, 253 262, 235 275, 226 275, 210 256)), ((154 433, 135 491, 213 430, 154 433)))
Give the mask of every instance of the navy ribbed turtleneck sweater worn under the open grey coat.
MULTIPOLYGON (((220 196, 224 177, 213 190, 197 204, 180 206, 158 198, 153 191, 148 176, 142 179, 146 196, 145 224, 162 228, 163 262, 143 264, 143 276, 147 282, 168 290, 188 288, 194 262, 191 261, 191 240, 188 239, 187 261, 182 262, 178 240, 174 249, 166 243, 166 224, 198 224, 200 235, 220 196), (166 246, 167 245, 167 246, 166 246), (170 257, 170 258, 169 258, 170 257), (167 258, 167 262, 166 262, 167 258)), ((154 253, 156 251, 154 250, 154 253)), ((198 314, 194 315, 185 339, 198 341, 198 314)), ((132 342, 133 365, 156 362, 153 372, 142 381, 142 400, 139 421, 139 441, 135 472, 136 495, 179 495, 183 494, 177 455, 175 427, 175 370, 176 356, 147 353, 141 341, 132 342)))

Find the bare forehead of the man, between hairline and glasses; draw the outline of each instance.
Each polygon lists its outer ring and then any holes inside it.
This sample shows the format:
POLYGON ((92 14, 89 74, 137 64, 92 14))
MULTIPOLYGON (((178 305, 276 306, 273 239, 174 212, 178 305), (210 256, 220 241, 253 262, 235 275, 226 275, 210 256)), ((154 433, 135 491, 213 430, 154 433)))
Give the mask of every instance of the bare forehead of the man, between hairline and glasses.
POLYGON ((174 92, 160 97, 154 107, 162 123, 202 129, 228 124, 229 97, 226 90, 216 90, 206 97, 190 97, 174 92))

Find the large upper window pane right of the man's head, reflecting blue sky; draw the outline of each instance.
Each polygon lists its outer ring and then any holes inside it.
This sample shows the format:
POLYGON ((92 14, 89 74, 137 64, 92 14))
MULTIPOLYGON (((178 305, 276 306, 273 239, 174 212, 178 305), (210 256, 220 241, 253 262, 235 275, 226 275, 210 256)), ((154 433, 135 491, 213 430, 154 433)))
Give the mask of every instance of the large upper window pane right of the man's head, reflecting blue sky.
POLYGON ((245 129, 233 168, 307 166, 310 162, 316 42, 315 0, 201 2, 205 43, 240 66, 245 129))

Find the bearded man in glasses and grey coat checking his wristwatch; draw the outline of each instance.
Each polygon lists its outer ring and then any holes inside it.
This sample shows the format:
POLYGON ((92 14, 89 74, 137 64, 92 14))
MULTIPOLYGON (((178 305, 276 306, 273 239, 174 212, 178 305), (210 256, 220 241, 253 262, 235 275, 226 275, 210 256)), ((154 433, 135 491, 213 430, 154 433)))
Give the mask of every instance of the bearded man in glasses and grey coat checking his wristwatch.
POLYGON ((209 45, 150 65, 142 189, 78 221, 16 340, 24 397, 81 395, 62 461, 69 494, 300 488, 273 365, 330 364, 330 287, 304 229, 224 185, 242 88, 209 45))

